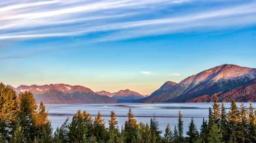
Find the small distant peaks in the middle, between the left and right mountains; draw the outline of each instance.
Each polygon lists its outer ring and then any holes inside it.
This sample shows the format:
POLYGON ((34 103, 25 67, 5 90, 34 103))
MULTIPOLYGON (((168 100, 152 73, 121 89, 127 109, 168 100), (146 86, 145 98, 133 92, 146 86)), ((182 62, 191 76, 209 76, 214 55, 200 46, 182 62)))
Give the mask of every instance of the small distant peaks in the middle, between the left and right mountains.
POLYGON ((136 99, 141 99, 141 98, 148 96, 148 95, 141 95, 135 91, 130 91, 129 89, 120 90, 120 91, 114 92, 114 93, 110 93, 107 91, 98 91, 96 93, 100 94, 100 95, 110 96, 113 99, 116 99, 118 102, 132 102, 136 99))

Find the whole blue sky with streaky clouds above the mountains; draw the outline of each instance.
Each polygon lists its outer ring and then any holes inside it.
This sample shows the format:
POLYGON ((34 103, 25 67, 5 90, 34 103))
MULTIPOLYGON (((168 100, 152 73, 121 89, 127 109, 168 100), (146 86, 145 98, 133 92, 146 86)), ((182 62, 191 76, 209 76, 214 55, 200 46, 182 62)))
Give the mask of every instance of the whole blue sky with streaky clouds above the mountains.
POLYGON ((255 0, 0 0, 0 81, 151 94, 256 68, 255 0))

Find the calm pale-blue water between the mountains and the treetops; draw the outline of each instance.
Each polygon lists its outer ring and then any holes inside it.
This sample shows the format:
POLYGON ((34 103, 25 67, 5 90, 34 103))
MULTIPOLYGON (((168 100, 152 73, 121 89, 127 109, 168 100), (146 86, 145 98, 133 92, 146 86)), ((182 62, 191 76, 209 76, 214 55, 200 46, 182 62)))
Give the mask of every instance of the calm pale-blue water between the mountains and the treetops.
MULTIPOLYGON (((174 130, 174 125, 178 123, 178 112, 181 111, 184 121, 184 134, 188 130, 188 125, 193 117, 197 128, 199 129, 203 118, 208 119, 208 109, 212 108, 212 103, 166 103, 166 104, 132 104, 132 103, 120 103, 120 104, 45 104, 46 108, 49 110, 49 119, 51 119, 51 124, 54 130, 57 126, 67 119, 70 118, 69 122, 72 120, 73 114, 77 110, 87 111, 91 116, 96 116, 98 111, 102 114, 105 119, 105 126, 108 126, 108 120, 110 119, 110 111, 114 111, 117 115, 118 126, 121 128, 124 125, 125 120, 127 120, 127 113, 129 108, 136 120, 143 123, 150 123, 150 119, 156 116, 159 121, 159 128, 165 131, 167 124, 171 125, 172 130, 174 130)), ((240 107, 241 103, 237 103, 240 107)), ((245 103, 249 106, 249 103, 245 103)), ((253 103, 256 107, 256 103, 253 103)), ((230 107, 230 103, 225 103, 225 108, 227 111, 230 107)))

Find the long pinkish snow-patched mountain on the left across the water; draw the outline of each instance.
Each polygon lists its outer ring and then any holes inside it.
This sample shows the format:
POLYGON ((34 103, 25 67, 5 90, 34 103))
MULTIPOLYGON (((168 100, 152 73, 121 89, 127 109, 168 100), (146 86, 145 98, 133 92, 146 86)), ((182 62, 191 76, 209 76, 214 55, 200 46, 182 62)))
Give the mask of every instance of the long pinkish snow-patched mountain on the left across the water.
MULTIPOLYGON (((9 85, 8 85, 9 86, 9 85)), ((84 86, 71 86, 68 84, 50 85, 21 85, 17 88, 10 86, 16 93, 31 91, 37 102, 43 101, 45 104, 53 103, 113 103, 115 99, 108 96, 96 94, 91 89, 84 86)))

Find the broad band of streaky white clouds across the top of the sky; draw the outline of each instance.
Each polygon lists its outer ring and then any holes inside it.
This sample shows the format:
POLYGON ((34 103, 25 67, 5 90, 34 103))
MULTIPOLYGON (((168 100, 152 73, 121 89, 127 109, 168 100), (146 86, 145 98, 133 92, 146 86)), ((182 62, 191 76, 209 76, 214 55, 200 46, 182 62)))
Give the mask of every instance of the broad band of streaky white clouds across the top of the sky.
POLYGON ((0 39, 63 37, 105 32, 94 41, 109 41, 256 23, 256 2, 230 4, 217 7, 218 10, 172 10, 175 5, 196 2, 197 0, 34 0, 15 4, 10 1, 0 7, 0 39), (176 14, 167 12, 156 15, 161 10, 172 10, 176 14))

